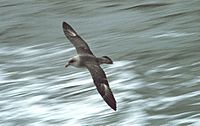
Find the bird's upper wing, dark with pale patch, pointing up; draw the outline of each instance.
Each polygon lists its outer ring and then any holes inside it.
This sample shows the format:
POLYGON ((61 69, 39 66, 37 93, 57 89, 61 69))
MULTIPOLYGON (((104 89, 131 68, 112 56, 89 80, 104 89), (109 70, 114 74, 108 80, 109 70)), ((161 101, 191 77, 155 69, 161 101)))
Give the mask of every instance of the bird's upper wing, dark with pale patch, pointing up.
POLYGON ((87 43, 76 33, 76 31, 66 22, 63 22, 63 31, 65 36, 70 40, 70 42, 75 46, 78 54, 92 54, 87 43))

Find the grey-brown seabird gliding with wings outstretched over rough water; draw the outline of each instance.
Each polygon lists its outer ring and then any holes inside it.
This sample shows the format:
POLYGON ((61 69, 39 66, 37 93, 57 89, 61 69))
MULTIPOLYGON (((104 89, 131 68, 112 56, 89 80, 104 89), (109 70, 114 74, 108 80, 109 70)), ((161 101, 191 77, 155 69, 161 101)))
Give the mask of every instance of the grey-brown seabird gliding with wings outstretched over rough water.
POLYGON ((77 55, 67 61, 65 67, 73 66, 77 68, 87 68, 99 94, 103 97, 108 106, 116 111, 115 97, 109 86, 106 74, 100 66, 101 64, 113 64, 113 61, 108 56, 96 57, 88 44, 68 23, 63 22, 62 28, 65 36, 76 48, 77 52, 77 55))

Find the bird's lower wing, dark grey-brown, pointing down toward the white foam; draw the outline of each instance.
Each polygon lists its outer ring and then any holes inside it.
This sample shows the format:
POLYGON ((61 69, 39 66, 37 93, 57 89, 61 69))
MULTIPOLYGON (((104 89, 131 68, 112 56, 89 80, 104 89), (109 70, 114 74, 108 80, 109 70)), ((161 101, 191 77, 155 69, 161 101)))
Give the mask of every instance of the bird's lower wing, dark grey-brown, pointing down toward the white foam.
POLYGON ((109 87, 106 74, 103 69, 97 64, 86 64, 87 69, 92 75, 93 81, 100 95, 103 97, 104 101, 114 110, 116 110, 116 101, 113 93, 109 87))

